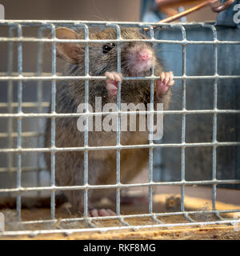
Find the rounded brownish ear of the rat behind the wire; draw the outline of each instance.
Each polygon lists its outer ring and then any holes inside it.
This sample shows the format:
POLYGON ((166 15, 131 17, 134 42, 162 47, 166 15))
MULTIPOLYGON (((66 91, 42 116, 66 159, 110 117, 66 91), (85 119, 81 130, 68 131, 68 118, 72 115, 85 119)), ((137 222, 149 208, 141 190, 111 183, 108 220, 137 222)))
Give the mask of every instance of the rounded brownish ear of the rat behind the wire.
MULTIPOLYGON (((58 39, 79 39, 74 30, 66 27, 59 27, 55 30, 58 39)), ((52 38, 52 35, 49 35, 52 38)), ((51 44, 50 44, 51 46, 51 44)), ((56 43, 57 56, 63 58, 66 62, 77 64, 81 58, 81 47, 75 42, 59 42, 56 43)))

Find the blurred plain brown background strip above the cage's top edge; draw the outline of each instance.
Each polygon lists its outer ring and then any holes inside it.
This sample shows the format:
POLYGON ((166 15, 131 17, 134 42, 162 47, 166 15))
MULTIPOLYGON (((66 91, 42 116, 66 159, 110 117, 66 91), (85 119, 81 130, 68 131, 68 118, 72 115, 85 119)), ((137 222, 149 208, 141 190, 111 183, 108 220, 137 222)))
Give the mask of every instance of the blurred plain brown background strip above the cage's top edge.
MULTIPOLYGON (((139 22, 141 0, 1 0, 6 19, 74 19, 139 22)), ((148 1, 152 2, 152 1, 148 1)), ((183 1, 184 2, 184 1, 183 1)), ((202 1, 192 1, 202 2, 202 1)), ((194 6, 190 3, 188 7, 194 6)), ((214 20, 210 8, 199 10, 187 17, 188 22, 214 20)))

